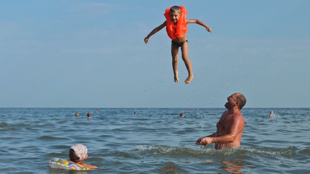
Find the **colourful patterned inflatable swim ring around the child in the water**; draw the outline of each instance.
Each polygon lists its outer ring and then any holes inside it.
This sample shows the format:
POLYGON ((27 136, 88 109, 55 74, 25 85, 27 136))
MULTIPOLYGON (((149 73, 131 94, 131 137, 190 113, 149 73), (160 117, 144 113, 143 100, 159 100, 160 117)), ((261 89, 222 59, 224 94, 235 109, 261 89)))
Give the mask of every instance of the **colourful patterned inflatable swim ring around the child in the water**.
POLYGON ((61 158, 52 158, 48 162, 48 164, 50 165, 51 168, 62 168, 68 170, 91 170, 86 166, 61 158))

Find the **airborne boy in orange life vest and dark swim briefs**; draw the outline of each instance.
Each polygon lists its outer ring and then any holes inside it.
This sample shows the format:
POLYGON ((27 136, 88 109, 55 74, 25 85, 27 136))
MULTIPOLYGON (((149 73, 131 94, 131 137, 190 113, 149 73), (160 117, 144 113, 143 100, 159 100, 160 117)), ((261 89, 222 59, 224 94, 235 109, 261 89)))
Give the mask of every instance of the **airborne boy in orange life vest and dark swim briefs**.
POLYGON ((179 82, 178 78, 178 52, 179 47, 181 47, 182 59, 188 71, 188 77, 184 83, 190 83, 193 79, 192 64, 188 59, 188 43, 185 33, 187 33, 187 24, 196 23, 206 28, 206 30, 212 33, 210 27, 205 23, 197 19, 186 19, 187 11, 184 6, 172 6, 166 9, 164 14, 166 21, 154 28, 147 37, 144 38, 144 42, 148 43, 148 39, 155 33, 157 33, 162 28, 166 27, 168 36, 172 39, 171 43, 171 55, 172 55, 172 69, 174 73, 174 81, 179 82))

